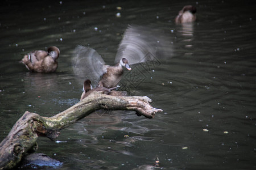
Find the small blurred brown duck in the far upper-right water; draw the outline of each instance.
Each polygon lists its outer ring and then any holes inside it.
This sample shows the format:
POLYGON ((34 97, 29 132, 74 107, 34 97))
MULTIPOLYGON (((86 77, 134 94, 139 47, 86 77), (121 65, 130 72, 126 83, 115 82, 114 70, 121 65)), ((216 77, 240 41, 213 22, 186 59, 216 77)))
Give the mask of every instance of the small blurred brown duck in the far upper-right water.
POLYGON ((175 18, 175 23, 192 23, 196 20, 196 7, 186 5, 179 11, 179 15, 175 18))

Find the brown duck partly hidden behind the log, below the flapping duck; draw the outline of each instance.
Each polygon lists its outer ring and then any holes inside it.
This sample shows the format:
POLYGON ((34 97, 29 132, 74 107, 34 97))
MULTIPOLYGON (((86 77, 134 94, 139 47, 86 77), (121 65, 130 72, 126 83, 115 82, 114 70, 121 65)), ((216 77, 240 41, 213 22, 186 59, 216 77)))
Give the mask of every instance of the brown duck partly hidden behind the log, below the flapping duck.
POLYGON ((84 99, 85 97, 87 97, 90 94, 92 94, 92 92, 94 92, 94 91, 104 91, 104 94, 108 95, 115 88, 117 88, 117 87, 113 87, 113 88, 96 87, 96 88, 93 88, 92 87, 92 82, 89 79, 86 79, 84 81, 84 86, 83 86, 83 90, 84 91, 82 92, 82 95, 80 97, 80 101, 82 101, 82 99, 84 99))

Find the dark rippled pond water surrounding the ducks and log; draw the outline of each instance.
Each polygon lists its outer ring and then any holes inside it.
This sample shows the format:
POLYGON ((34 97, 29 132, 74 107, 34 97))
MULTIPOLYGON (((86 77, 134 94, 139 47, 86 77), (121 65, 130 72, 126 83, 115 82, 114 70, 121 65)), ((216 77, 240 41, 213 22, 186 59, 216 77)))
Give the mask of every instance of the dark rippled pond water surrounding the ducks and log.
POLYGON ((38 152, 63 162, 57 169, 150 169, 157 159, 152 169, 256 168, 254 1, 1 3, 1 141, 25 111, 53 116, 79 102, 71 66, 77 44, 112 64, 129 24, 154 26, 171 37, 173 52, 129 91, 163 112, 149 120, 98 111, 61 130, 59 142, 39 138, 38 152), (197 22, 176 25, 187 4, 197 7, 197 22), (61 51, 56 73, 28 73, 18 63, 51 45, 61 51))

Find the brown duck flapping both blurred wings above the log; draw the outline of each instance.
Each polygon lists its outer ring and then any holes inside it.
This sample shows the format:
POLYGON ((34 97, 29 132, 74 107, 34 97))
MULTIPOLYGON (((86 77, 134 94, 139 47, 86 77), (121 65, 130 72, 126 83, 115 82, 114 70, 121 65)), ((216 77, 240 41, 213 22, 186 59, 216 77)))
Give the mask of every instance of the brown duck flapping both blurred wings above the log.
MULTIPOLYGON (((119 44, 114 66, 105 65, 104 59, 96 50, 78 45, 72 59, 73 71, 78 78, 89 79, 98 87, 116 87, 122 79, 123 67, 130 71, 130 66, 154 61, 166 54, 162 48, 164 41, 159 35, 160 33, 153 32, 150 28, 130 25, 119 44)), ((110 95, 124 94, 112 91, 110 95)))

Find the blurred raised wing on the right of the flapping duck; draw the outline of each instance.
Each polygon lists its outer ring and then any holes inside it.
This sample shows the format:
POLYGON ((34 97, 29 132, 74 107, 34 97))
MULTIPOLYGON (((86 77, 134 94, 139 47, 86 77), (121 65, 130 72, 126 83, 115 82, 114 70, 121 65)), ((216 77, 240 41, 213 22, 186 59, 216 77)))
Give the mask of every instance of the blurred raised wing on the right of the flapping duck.
POLYGON ((160 32, 158 28, 129 25, 119 44, 115 63, 121 58, 128 59, 129 65, 133 65, 166 57, 168 40, 160 32))

